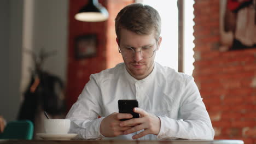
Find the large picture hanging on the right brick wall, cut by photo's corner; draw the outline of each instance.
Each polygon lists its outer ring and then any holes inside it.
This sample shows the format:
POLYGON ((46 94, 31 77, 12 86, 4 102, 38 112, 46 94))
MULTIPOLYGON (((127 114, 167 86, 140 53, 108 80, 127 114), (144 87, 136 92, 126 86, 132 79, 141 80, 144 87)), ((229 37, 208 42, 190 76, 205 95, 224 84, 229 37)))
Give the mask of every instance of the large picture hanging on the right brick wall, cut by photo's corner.
POLYGON ((256 48, 256 0, 219 0, 220 51, 256 48))

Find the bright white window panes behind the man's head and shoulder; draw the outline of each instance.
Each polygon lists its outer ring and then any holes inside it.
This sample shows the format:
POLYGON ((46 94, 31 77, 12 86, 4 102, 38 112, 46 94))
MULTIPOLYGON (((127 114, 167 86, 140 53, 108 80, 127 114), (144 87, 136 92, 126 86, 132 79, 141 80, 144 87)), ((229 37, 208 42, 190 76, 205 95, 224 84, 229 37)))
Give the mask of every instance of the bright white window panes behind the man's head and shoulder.
MULTIPOLYGON (((156 52, 155 61, 161 65, 178 70, 178 7, 176 1, 155 0, 137 1, 148 4, 158 10, 162 19, 162 44, 156 52)), ((193 37, 193 4, 194 1, 184 1, 184 73, 192 75, 194 62, 193 37)))

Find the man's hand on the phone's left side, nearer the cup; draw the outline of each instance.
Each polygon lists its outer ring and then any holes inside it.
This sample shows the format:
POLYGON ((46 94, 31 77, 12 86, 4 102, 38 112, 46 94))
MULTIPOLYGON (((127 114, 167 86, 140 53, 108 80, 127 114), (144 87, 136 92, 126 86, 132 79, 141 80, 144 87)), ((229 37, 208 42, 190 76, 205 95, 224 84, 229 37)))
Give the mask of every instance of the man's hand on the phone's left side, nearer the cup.
POLYGON ((124 131, 131 127, 120 127, 120 119, 123 118, 132 118, 132 115, 129 113, 114 112, 103 118, 100 125, 100 133, 106 137, 124 135, 124 131))

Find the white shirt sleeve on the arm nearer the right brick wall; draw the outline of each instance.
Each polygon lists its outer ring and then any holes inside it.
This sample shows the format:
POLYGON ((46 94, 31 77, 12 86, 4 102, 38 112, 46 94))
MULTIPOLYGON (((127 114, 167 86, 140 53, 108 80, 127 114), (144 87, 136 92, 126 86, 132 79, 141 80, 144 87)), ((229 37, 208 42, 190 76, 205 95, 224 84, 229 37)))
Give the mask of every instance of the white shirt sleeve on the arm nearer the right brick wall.
POLYGON ((158 139, 213 140, 214 130, 211 119, 194 79, 190 79, 187 85, 184 86, 178 120, 167 116, 158 117, 161 121, 158 139))

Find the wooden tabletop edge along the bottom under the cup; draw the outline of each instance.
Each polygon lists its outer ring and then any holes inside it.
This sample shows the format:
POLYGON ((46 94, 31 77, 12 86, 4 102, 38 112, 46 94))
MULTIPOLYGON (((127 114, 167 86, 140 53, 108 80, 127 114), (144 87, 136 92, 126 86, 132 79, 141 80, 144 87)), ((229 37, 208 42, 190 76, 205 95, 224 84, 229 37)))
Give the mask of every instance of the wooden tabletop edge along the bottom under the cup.
POLYGON ((0 144, 243 144, 241 140, 0 140, 0 144))

